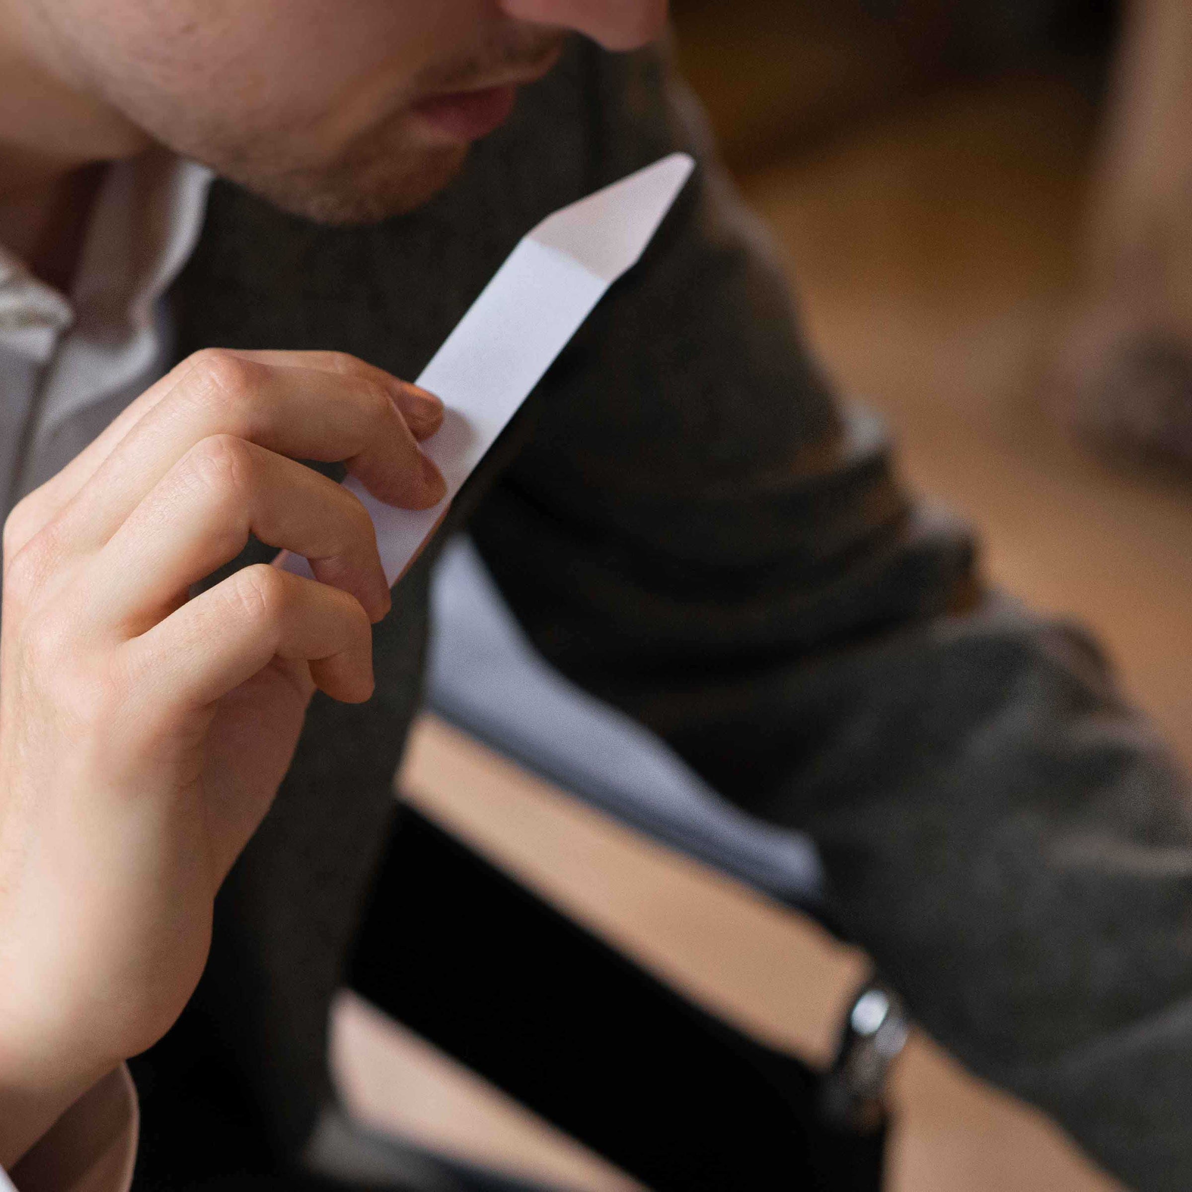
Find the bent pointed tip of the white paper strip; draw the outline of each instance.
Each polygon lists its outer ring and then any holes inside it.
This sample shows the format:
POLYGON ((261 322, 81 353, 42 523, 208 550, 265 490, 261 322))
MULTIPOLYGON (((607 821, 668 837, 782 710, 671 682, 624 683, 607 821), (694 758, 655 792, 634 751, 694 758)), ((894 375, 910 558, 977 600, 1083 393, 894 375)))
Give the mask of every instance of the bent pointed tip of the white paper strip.
POLYGON ((615 281, 645 252, 694 168, 688 154, 671 154, 547 216, 528 238, 615 281))

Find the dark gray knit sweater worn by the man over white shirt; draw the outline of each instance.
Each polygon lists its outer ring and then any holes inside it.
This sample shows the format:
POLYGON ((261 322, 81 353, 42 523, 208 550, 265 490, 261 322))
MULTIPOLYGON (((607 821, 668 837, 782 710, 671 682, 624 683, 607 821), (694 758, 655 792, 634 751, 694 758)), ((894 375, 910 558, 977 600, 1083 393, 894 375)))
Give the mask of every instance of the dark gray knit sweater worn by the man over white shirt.
MULTIPOLYGON (((217 186, 175 287, 179 354, 337 348, 414 377, 535 221, 676 147, 694 185, 452 522, 558 668, 813 834, 834 921, 936 1038, 1134 1186, 1192 1187, 1185 780, 1095 647, 989 592, 964 527, 917 505, 881 427, 833 398, 658 56, 577 43, 447 193, 377 228, 217 186)), ((316 700, 221 895, 190 1051, 156 1058, 168 1084, 200 1041, 284 1154, 327 1091, 432 558, 378 629, 375 699, 316 700)))

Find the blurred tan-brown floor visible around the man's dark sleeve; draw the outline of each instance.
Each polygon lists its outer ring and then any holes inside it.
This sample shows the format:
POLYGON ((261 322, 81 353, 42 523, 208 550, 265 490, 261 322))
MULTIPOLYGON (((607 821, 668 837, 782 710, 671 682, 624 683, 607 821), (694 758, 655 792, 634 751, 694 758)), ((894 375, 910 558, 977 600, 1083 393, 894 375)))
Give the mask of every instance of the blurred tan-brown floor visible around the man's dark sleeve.
MULTIPOLYGON (((1192 501, 1049 421, 1092 116, 1062 82, 937 93, 745 180, 793 266, 815 347, 882 409, 917 488, 981 527, 988 571, 1092 625, 1192 762, 1192 501)), ((863 958, 665 855, 432 720, 411 797, 647 964, 821 1057, 863 958)), ((336 1054, 371 1120, 583 1190, 633 1185, 344 997, 336 1054)), ((917 1039, 900 1062, 895 1192, 1113 1187, 1051 1126, 917 1039)))

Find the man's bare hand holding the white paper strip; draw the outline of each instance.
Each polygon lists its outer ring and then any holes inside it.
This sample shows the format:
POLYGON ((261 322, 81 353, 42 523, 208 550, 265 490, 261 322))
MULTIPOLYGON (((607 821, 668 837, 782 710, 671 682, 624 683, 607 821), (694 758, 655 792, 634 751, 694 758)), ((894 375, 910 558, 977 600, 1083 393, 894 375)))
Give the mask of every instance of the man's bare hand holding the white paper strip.
POLYGON ((315 689, 372 694, 372 523, 296 460, 427 508, 445 485, 416 440, 441 417, 348 356, 203 352, 8 519, 0 1163, 169 1029, 315 689), (262 565, 190 598, 249 534, 319 582, 262 565))

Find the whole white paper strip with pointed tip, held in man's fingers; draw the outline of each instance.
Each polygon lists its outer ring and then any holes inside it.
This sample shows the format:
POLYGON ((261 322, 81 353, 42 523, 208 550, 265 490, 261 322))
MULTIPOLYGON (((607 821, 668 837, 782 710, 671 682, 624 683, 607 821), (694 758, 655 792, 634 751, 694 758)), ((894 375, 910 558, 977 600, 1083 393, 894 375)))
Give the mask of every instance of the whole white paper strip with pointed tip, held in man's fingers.
MULTIPOLYGON (((391 584, 592 308, 645 252, 694 164, 672 154, 547 216, 435 353, 417 384, 447 406, 442 429, 423 447, 447 480, 443 502, 422 513, 393 509, 346 482, 377 527, 391 584)), ((305 559, 279 561, 310 576, 305 559)))

